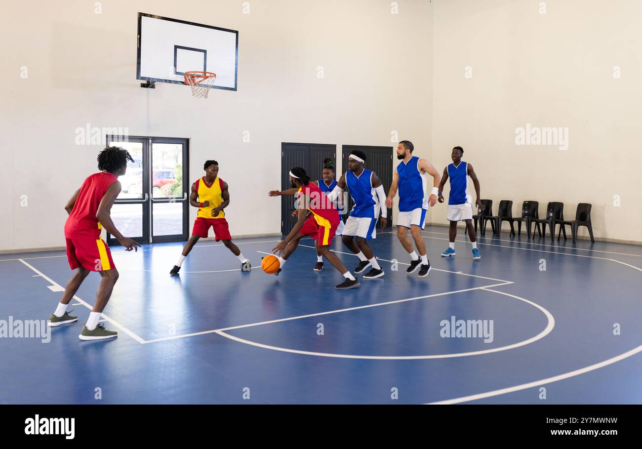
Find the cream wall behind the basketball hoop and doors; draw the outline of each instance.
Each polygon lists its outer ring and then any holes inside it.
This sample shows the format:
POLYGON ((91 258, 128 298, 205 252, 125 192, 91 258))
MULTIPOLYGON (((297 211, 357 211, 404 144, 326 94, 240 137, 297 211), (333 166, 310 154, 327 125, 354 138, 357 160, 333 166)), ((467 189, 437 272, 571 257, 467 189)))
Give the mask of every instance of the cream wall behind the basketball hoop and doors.
MULTIPOLYGON (((280 231, 281 142, 395 145, 431 151, 431 4, 387 0, 12 2, 3 54, 0 251, 64 245, 63 209, 96 171, 100 145, 77 127, 189 137, 190 177, 205 159, 230 186, 232 234, 280 231), (191 98, 189 88, 135 79, 137 12, 239 31, 238 92, 191 98), (21 78, 21 67, 28 78, 21 78), (317 78, 317 67, 324 78, 317 78), (243 131, 250 143, 243 143, 243 131), (21 206, 26 195, 28 206, 21 206)), ((195 210, 191 211, 194 218, 195 210)))

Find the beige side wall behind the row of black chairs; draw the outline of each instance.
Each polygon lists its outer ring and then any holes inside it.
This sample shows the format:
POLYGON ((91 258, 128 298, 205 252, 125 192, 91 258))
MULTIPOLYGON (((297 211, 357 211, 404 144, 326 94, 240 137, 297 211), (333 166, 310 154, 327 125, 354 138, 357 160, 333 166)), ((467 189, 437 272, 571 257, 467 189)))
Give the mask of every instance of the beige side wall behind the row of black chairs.
MULTIPOLYGON (((589 202, 596 237, 641 242, 642 2, 545 3, 433 2, 433 163, 461 145, 483 198, 513 200, 514 214, 539 200, 541 216, 562 201, 567 219, 589 202), (526 123, 567 127, 568 150, 516 145, 526 123)), ((446 208, 429 218, 446 223, 446 208)))

